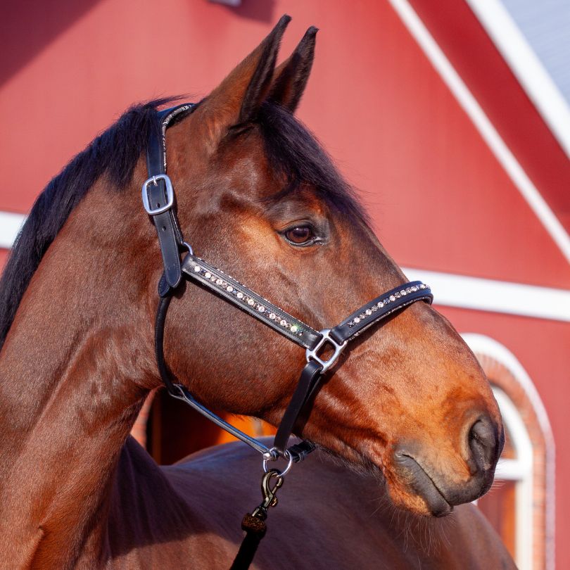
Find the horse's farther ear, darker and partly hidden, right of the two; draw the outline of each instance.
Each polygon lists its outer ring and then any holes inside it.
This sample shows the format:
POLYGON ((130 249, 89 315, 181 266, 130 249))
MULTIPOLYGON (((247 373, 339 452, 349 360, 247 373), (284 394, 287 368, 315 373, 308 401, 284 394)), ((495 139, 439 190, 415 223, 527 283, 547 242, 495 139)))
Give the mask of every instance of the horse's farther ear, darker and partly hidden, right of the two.
POLYGON ((311 26, 289 59, 281 63, 274 73, 270 99, 294 113, 312 68, 315 58, 315 41, 318 28, 311 26))

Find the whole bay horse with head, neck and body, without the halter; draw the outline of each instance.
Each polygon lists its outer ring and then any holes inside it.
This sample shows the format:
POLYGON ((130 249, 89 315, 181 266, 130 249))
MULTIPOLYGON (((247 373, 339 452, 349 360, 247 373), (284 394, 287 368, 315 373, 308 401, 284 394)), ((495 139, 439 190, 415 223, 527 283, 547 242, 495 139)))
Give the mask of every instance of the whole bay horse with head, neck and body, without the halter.
MULTIPOLYGON (((276 67, 288 22, 170 127, 168 172, 196 252, 325 327, 405 277, 293 117, 317 30, 276 67)), ((3 569, 228 568, 241 516, 259 502, 260 458, 243 444, 158 467, 129 437, 161 384, 153 314, 163 263, 139 193, 165 103, 131 108, 72 159, 4 270, 3 569)), ((304 361, 288 339, 186 281, 164 355, 203 405, 276 425, 304 361)), ((429 303, 359 336, 296 433, 318 450, 287 475, 256 568, 514 567, 473 505, 440 518, 488 490, 503 431, 481 367, 429 303)))

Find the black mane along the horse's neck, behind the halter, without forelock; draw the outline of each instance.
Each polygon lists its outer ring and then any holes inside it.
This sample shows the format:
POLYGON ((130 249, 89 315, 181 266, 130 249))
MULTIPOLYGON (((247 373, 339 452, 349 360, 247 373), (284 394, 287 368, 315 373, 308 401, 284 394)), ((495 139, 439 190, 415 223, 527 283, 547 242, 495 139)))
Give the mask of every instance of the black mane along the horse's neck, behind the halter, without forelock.
POLYGON ((0 349, 18 305, 47 248, 89 188, 106 174, 118 189, 129 184, 150 129, 155 110, 172 99, 129 108, 49 182, 35 201, 13 246, 0 279, 0 349))

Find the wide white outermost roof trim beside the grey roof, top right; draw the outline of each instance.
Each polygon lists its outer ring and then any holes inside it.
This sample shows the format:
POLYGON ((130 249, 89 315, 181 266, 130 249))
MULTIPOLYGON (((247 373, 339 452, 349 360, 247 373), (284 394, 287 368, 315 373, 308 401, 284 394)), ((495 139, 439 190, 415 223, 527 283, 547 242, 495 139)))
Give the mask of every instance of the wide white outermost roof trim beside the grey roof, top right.
POLYGON ((570 107, 500 0, 467 0, 528 97, 570 157, 570 107))

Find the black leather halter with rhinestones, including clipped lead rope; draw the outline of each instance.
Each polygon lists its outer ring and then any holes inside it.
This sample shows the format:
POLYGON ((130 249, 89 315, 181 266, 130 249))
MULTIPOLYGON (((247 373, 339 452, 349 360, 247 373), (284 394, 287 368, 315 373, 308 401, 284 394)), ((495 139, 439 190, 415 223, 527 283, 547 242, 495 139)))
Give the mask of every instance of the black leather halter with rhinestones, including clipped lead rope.
POLYGON ((191 113, 194 108, 194 103, 184 103, 170 109, 157 111, 156 124, 151 129, 146 149, 148 179, 142 186, 142 201, 146 213, 148 213, 156 226, 164 264, 163 277, 161 277, 158 284, 160 300, 155 322, 155 351, 160 376, 167 391, 173 398, 182 400, 184 403, 194 407, 203 416, 231 433, 232 436, 250 445, 263 456, 265 476, 262 479, 262 493, 264 501, 253 511, 253 514, 248 514, 243 519, 242 528, 248 532, 248 536, 246 536, 241 545, 236 561, 232 566, 232 569, 238 569, 247 568, 251 563, 257 544, 265 534, 267 509, 277 504, 275 493, 281 486, 284 475, 291 468, 291 464, 303 460, 315 449, 315 445, 310 441, 301 441, 289 448, 287 445, 296 420, 317 386, 319 386, 322 374, 335 364, 347 343, 362 333, 362 331, 381 323, 388 315, 418 300, 431 303, 433 295, 429 286, 421 281, 411 281, 371 300, 344 319, 343 322, 337 324, 336 327, 317 331, 308 324, 292 317, 288 312, 280 309, 277 305, 258 295, 258 293, 248 289, 248 287, 217 269, 217 267, 196 257, 191 246, 184 241, 182 236, 173 208, 175 204, 174 188, 166 174, 166 129, 172 124, 173 120, 183 118, 191 113), (186 255, 181 262, 180 258, 184 252, 186 252, 186 255), (222 418, 201 405, 182 384, 176 384, 173 381, 165 364, 163 350, 164 328, 172 293, 179 286, 182 277, 188 281, 196 281, 198 284, 205 286, 208 291, 216 293, 237 308, 271 327, 274 331, 305 348, 307 364, 300 374, 296 390, 281 419, 272 448, 267 448, 262 442, 251 438, 231 424, 224 422, 222 418), (319 356, 319 351, 325 345, 333 349, 332 355, 327 360, 323 360, 319 356), (268 462, 275 461, 279 457, 283 457, 287 461, 286 468, 283 471, 267 469, 268 462), (272 478, 276 479, 273 488, 270 484, 272 478), (253 536, 252 533, 255 534, 257 542, 254 540, 252 543, 250 540, 250 544, 248 539, 253 536))

